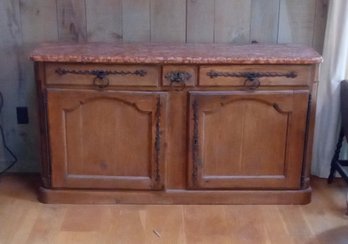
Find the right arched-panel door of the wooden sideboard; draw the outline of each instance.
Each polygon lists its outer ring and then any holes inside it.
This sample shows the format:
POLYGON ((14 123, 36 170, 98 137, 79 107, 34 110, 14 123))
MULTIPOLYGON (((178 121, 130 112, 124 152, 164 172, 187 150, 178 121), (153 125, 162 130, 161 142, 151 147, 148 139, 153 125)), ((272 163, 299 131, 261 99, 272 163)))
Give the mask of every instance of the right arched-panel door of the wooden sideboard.
POLYGON ((191 92, 190 188, 298 189, 307 91, 191 92))

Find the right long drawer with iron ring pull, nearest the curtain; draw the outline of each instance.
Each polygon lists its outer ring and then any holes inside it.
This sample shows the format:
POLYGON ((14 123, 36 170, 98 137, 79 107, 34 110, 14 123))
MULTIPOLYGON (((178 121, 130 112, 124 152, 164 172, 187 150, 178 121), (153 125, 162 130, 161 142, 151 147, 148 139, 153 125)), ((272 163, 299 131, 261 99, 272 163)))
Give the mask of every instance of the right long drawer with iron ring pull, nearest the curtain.
POLYGON ((310 65, 213 65, 201 66, 200 86, 306 86, 310 65))

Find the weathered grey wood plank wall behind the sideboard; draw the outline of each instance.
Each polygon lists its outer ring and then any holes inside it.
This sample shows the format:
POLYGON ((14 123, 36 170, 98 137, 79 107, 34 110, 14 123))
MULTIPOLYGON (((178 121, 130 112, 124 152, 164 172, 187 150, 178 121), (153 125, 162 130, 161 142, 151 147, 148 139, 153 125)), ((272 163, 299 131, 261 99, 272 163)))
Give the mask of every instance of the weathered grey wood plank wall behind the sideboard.
MULTIPOLYGON (((38 121, 30 50, 44 41, 302 43, 321 52, 329 0, 0 0, 1 124, 36 171, 38 121), (16 107, 29 109, 18 125, 16 107)), ((0 143, 0 168, 8 155, 0 143)))

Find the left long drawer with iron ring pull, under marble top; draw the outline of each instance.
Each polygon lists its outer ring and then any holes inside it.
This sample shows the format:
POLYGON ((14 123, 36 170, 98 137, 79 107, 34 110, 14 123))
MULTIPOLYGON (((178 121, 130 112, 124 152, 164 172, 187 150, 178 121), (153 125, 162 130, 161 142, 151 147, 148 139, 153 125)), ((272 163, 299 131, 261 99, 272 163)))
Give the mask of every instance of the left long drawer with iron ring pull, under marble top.
POLYGON ((151 65, 46 65, 48 85, 158 86, 159 66, 151 65))

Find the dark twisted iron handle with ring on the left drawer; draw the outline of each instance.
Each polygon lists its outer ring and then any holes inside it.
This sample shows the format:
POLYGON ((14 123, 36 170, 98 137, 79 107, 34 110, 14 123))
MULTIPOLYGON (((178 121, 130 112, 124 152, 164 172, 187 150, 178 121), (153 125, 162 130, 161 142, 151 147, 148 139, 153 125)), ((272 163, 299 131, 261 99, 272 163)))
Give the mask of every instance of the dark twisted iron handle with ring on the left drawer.
POLYGON ((112 71, 112 70, 69 70, 64 68, 57 68, 55 72, 58 75, 74 74, 74 75, 94 75, 93 84, 99 88, 105 88, 109 86, 110 81, 107 78, 108 75, 136 75, 144 77, 147 72, 145 70, 135 71, 112 71))

